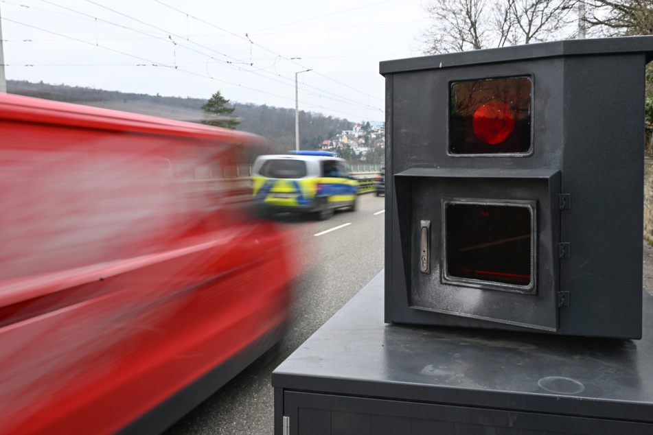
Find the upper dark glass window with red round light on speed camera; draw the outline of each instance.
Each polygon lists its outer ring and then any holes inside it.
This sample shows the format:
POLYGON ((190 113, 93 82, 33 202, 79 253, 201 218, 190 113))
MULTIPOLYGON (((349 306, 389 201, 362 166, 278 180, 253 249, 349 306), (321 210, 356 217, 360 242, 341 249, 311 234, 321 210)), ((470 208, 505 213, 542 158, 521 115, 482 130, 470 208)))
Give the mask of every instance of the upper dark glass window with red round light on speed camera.
POLYGON ((453 82, 449 151, 452 154, 525 153, 531 148, 531 79, 453 82))

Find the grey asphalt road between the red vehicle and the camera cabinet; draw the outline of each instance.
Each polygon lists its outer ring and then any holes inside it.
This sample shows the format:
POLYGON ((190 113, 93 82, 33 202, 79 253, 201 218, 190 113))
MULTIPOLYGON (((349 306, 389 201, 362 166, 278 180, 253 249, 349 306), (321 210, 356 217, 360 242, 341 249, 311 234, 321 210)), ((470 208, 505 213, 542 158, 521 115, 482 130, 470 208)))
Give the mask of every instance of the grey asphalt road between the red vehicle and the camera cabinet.
POLYGON ((371 193, 358 198, 353 213, 336 212, 330 220, 278 217, 297 233, 302 248, 297 260, 305 267, 297 281, 293 324, 275 348, 170 427, 166 435, 273 434, 271 373, 382 270, 384 208, 384 198, 371 193))

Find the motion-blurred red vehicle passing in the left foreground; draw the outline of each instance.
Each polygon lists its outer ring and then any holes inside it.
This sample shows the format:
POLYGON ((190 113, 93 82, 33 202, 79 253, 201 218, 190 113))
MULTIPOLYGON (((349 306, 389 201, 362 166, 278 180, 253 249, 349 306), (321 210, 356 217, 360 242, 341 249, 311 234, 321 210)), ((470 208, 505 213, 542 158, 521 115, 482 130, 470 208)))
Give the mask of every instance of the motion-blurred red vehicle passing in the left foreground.
POLYGON ((238 174, 262 143, 0 95, 1 432, 160 432, 281 338, 293 247, 238 174))

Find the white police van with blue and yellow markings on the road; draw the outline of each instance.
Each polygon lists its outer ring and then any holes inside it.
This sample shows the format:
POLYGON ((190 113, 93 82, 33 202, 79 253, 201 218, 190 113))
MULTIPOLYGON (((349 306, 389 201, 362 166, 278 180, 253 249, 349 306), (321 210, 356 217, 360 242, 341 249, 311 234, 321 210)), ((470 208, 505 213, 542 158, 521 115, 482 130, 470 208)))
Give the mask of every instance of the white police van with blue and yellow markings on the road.
POLYGON ((331 152, 259 156, 252 180, 254 199, 264 214, 315 213, 325 220, 335 209, 356 210, 358 181, 347 162, 331 152))

